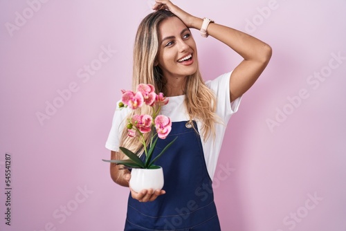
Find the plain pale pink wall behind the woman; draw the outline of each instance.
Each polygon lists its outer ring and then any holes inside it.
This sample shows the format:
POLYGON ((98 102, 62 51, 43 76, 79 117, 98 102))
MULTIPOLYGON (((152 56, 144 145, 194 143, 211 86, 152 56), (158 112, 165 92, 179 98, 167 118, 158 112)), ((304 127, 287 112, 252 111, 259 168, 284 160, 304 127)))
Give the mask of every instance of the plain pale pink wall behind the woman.
MULTIPOLYGON (((128 189, 101 159, 120 89, 130 87, 136 28, 153 2, 0 2, 0 230, 122 230, 128 189), (40 123, 47 103, 59 108, 40 123)), ((174 3, 273 48, 228 124, 214 185, 223 230, 346 230, 346 1, 174 3)), ((194 36, 206 79, 241 61, 194 36)))

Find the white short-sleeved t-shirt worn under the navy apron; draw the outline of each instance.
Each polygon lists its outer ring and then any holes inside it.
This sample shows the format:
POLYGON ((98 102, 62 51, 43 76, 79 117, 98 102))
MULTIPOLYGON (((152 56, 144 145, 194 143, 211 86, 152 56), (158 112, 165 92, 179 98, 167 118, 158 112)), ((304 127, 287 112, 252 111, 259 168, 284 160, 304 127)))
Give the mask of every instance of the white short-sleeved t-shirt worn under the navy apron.
MULTIPOLYGON (((231 115, 237 112, 240 101, 242 97, 237 98, 232 103, 230 103, 230 73, 225 73, 220 75, 215 80, 208 80, 206 86, 214 91, 217 96, 217 110, 216 113, 219 118, 224 122, 224 124, 215 124, 216 138, 213 139, 212 136, 204 142, 201 134, 201 142, 203 146, 204 158, 206 159, 206 165, 210 178, 213 178, 215 169, 217 167, 217 159, 219 158, 219 153, 222 145, 222 140, 224 140, 224 134, 226 131, 226 125, 228 120, 230 120, 231 115)), ((185 95, 179 95, 174 97, 169 97, 169 102, 167 105, 161 107, 161 114, 170 117, 172 122, 187 121, 188 113, 184 106, 185 95)), ((129 108, 119 109, 117 107, 116 112, 113 116, 113 122, 111 126, 111 131, 106 142, 106 147, 112 151, 119 151, 120 138, 122 129, 125 127, 125 120, 129 113, 129 108)), ((197 127, 201 133, 201 122, 197 120, 197 127)))

